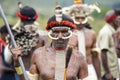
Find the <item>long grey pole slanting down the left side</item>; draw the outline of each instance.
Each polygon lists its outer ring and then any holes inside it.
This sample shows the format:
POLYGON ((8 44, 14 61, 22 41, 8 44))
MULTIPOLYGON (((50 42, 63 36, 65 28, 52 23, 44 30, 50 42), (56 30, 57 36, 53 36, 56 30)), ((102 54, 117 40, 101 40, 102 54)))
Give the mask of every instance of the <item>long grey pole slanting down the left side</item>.
MULTIPOLYGON (((4 22, 5 22, 5 25, 6 25, 6 27, 7 27, 8 33, 9 33, 9 35, 10 35, 10 37, 11 37, 13 46, 16 47, 17 45, 16 45, 16 42, 15 42, 14 36, 13 36, 13 34, 12 34, 12 32, 11 32, 10 26, 9 26, 9 24, 8 24, 8 22, 7 22, 7 19, 6 19, 6 17, 5 17, 5 14, 4 14, 4 12, 3 12, 3 9, 2 9, 2 7, 1 7, 1 5, 0 5, 0 15, 1 15, 1 17, 3 18, 3 20, 4 20, 4 22)), ((19 63, 20 63, 20 66, 22 67, 22 71, 23 71, 25 80, 29 80, 29 79, 28 79, 28 76, 27 76, 27 73, 26 73, 26 71, 25 71, 25 68, 24 68, 24 64, 23 64, 22 58, 21 58, 20 56, 18 57, 18 61, 19 61, 19 63)))

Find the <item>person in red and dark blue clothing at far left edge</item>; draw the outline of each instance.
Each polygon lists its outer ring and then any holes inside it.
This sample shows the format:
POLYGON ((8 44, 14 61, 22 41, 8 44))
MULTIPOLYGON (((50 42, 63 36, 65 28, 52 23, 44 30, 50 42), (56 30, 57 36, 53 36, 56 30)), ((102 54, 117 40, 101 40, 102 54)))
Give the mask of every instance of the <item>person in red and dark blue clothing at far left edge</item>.
MULTIPOLYGON (((12 25, 9 25, 10 29, 12 29, 12 25)), ((12 30, 13 32, 13 30, 12 30)), ((0 56, 1 56, 1 64, 0 64, 0 80, 16 80, 15 79, 15 71, 12 67, 12 64, 6 63, 4 58, 4 50, 7 46, 6 37, 8 35, 8 30, 6 25, 3 25, 0 28, 0 56)))

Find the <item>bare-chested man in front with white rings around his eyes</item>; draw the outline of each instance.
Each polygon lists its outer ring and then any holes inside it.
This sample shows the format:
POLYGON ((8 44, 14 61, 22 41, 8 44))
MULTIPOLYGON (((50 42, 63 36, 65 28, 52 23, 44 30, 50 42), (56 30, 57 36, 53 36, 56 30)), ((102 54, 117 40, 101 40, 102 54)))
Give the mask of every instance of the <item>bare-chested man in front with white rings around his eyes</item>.
MULTIPOLYGON (((55 15, 48 20, 46 30, 52 39, 49 46, 38 48, 31 59, 30 80, 90 80, 87 79, 87 64, 79 51, 67 46, 72 31, 76 29, 73 20, 61 14, 57 6, 55 15)), ((18 61, 21 48, 12 50, 14 61, 18 61), (20 52, 18 52, 20 51, 20 52)), ((19 67, 19 64, 14 64, 19 67)), ((22 74, 21 74, 22 75, 22 74)), ((21 78, 21 80, 24 80, 21 78)))

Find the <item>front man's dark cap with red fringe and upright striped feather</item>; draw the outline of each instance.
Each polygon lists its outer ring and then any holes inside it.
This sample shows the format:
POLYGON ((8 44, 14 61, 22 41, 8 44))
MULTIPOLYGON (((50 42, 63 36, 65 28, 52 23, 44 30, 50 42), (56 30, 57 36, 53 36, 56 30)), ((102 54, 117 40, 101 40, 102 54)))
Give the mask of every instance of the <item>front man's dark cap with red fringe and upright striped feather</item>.
POLYGON ((46 30, 49 30, 55 26, 66 26, 71 29, 76 29, 76 25, 73 20, 69 16, 62 13, 62 8, 60 5, 56 6, 55 15, 48 20, 46 30))

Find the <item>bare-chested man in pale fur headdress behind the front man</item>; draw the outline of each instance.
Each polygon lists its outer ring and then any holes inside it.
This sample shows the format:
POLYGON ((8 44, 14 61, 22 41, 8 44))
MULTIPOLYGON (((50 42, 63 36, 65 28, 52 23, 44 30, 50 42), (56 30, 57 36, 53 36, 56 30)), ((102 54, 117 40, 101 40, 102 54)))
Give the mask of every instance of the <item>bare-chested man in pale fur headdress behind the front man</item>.
MULTIPOLYGON (((93 29, 86 27, 87 17, 94 11, 87 4, 75 4, 70 7, 69 15, 73 17, 77 30, 69 40, 69 46, 79 50, 88 64, 88 76, 90 80, 101 80, 99 61, 99 49, 96 47, 96 33, 93 29)), ((99 10, 100 12, 100 10, 99 10)))

